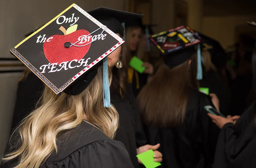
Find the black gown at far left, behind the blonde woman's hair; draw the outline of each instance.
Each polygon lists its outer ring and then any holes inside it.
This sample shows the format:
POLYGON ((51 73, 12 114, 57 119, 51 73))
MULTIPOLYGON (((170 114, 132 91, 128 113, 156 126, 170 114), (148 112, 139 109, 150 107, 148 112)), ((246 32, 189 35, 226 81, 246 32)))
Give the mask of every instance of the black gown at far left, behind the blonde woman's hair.
POLYGON ((43 90, 44 83, 34 73, 29 73, 24 81, 19 82, 12 118, 12 130, 35 109, 43 90))

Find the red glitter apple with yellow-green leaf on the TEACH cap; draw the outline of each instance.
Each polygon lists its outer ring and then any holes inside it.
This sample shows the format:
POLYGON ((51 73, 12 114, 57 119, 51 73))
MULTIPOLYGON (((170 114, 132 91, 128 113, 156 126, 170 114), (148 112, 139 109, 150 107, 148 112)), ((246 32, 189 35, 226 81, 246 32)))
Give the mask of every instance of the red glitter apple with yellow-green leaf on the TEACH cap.
MULTIPOLYGON (((59 28, 64 35, 53 35, 49 37, 44 43, 44 54, 47 60, 52 63, 62 63, 66 61, 72 61, 74 59, 80 60, 85 54, 88 52, 90 45, 88 44, 83 47, 70 46, 66 48, 64 44, 66 42, 75 43, 78 41, 78 38, 83 35, 90 34, 87 30, 76 30, 77 24, 69 27, 67 30, 64 27, 59 28)), ((91 42, 91 38, 89 41, 76 45, 85 45, 91 42)))

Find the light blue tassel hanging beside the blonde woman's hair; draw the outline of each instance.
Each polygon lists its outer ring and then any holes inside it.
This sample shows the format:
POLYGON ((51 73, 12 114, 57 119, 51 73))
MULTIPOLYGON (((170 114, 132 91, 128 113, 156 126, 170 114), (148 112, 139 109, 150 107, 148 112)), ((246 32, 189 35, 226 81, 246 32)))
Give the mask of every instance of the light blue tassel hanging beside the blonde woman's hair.
POLYGON ((104 107, 111 107, 109 91, 108 57, 103 60, 103 102, 104 107))

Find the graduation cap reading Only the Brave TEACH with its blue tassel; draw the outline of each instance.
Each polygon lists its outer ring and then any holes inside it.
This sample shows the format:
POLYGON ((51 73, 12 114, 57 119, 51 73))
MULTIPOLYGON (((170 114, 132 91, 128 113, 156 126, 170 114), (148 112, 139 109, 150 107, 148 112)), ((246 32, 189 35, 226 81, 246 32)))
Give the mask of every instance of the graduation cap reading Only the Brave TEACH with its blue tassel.
POLYGON ((124 40, 76 4, 10 50, 56 94, 80 94, 103 64, 104 106, 110 107, 108 59, 124 40))

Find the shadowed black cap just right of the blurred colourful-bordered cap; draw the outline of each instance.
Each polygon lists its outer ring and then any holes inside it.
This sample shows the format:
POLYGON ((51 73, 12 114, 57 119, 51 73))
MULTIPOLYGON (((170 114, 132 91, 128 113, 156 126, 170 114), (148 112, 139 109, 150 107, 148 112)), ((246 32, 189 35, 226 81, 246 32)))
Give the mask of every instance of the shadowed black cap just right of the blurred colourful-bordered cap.
POLYGON ((201 50, 209 51, 211 61, 217 68, 222 68, 226 65, 226 52, 220 43, 202 33, 195 32, 201 37, 201 50))

